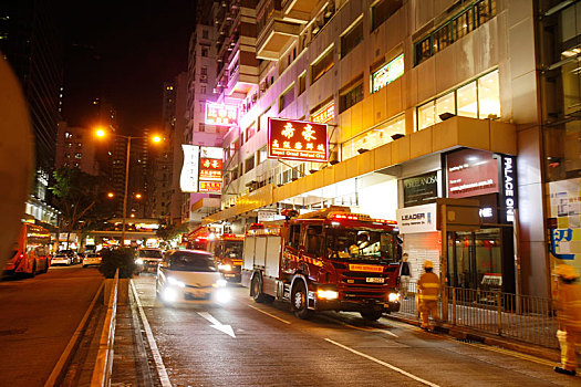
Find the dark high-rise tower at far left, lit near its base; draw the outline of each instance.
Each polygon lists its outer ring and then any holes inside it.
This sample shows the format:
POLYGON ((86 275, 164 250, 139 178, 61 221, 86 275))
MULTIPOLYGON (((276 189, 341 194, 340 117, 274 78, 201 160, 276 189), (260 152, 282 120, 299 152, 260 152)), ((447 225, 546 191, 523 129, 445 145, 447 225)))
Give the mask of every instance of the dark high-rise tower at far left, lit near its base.
POLYGON ((0 9, 0 52, 20 80, 35 139, 37 176, 27 213, 53 226, 48 187, 61 119, 63 79, 62 1, 9 1, 0 9))

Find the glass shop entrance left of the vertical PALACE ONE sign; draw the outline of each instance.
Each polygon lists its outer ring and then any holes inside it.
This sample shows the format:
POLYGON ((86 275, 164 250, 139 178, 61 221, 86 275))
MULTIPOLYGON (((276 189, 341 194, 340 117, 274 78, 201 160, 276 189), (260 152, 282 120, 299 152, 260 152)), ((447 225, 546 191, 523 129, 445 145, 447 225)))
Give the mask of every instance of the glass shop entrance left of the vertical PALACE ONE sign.
POLYGON ((448 283, 515 293, 512 227, 449 232, 448 283))

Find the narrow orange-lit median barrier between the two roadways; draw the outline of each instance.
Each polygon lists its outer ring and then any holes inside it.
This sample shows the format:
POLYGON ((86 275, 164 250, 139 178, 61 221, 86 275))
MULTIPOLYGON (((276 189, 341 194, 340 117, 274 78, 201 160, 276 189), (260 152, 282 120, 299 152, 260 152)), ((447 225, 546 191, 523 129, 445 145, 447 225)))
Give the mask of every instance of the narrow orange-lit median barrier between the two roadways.
POLYGON ((117 287, 120 271, 115 278, 108 296, 105 323, 98 341, 98 352, 91 377, 91 386, 111 386, 111 374, 113 372, 113 342, 115 337, 115 321, 117 314, 117 287))

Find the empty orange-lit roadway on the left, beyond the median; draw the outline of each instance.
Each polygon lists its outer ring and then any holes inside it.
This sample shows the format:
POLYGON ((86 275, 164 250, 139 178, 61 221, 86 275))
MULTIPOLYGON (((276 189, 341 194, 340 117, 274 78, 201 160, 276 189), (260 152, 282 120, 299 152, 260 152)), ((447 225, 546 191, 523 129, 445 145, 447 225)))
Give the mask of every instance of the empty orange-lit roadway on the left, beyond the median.
POLYGON ((77 264, 0 282, 0 386, 44 386, 102 281, 77 264))

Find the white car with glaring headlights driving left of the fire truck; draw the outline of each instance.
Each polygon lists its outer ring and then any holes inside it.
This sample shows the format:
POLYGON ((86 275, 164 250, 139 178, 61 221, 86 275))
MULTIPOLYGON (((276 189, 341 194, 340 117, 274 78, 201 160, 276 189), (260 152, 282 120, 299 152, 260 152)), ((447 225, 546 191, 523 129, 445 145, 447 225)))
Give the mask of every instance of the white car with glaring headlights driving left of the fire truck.
POLYGON ((157 269, 155 290, 165 304, 222 304, 230 300, 226 284, 210 253, 173 250, 164 254, 157 269))

